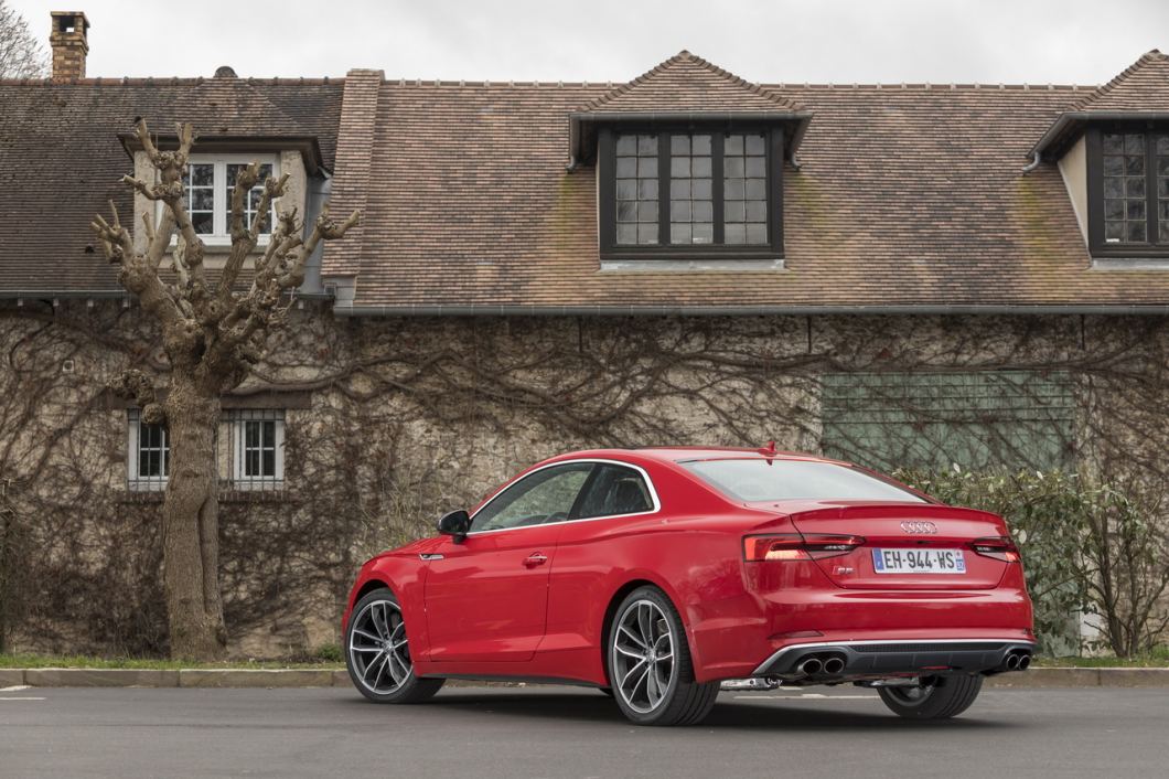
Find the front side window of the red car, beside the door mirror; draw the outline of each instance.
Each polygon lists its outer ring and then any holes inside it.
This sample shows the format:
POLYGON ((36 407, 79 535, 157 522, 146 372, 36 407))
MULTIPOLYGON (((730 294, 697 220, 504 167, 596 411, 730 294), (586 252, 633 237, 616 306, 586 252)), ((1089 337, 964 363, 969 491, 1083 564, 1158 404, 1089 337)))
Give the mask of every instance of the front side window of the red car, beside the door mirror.
POLYGON ((525 476, 475 515, 471 532, 567 519, 593 467, 590 462, 574 462, 525 476))

